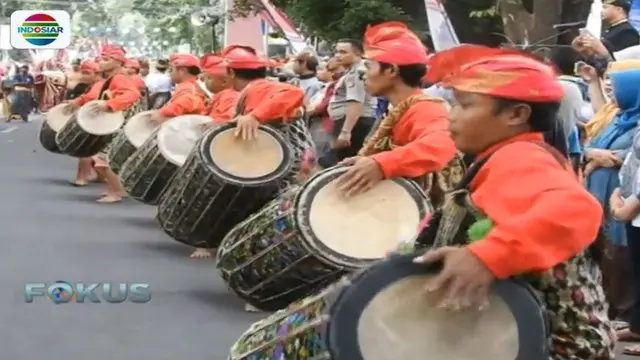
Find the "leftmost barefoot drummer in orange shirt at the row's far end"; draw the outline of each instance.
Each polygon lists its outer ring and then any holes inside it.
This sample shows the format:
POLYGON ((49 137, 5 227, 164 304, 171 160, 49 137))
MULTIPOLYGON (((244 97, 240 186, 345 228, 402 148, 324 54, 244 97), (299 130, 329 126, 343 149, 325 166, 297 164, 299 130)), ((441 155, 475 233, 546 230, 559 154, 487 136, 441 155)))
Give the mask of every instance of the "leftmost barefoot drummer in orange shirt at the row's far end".
MULTIPOLYGON (((127 111, 132 112, 140 101, 140 92, 131 77, 124 73, 126 52, 119 46, 107 45, 100 52, 100 70, 104 75, 101 87, 94 86, 87 94, 78 97, 70 103, 69 111, 73 111, 89 101, 106 99, 104 105, 96 111, 127 111)), ((135 111, 135 110, 134 110, 135 111)), ((129 117, 125 115, 125 117, 129 117)), ((107 192, 98 199, 100 203, 115 203, 125 196, 120 179, 111 169, 104 154, 96 155, 94 168, 103 176, 107 185, 107 192)))

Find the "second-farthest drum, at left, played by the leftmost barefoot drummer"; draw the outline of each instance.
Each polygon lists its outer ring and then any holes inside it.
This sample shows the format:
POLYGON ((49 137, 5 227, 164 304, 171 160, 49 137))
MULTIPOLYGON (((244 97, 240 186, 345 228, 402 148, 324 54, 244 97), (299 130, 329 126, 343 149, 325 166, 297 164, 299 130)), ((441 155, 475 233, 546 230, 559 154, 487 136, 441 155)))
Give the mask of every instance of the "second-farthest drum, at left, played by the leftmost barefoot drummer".
POLYGON ((67 121, 56 135, 56 144, 64 154, 84 158, 102 151, 125 122, 120 111, 100 112, 92 110, 103 100, 90 101, 83 105, 67 121))

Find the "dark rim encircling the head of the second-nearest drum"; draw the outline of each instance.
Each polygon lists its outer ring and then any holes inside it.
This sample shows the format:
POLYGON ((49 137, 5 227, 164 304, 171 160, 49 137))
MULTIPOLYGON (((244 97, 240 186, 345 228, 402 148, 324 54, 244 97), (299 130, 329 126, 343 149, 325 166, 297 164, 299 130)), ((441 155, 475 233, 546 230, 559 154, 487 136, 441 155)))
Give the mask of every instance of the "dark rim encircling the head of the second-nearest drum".
MULTIPOLYGON (((326 185, 328 182, 333 181, 347 170, 347 166, 337 165, 320 171, 313 175, 309 180, 307 180, 307 182, 302 185, 302 187, 296 193, 293 200, 293 216, 295 218, 296 229, 299 231, 302 238, 302 246, 304 246, 307 251, 315 254, 318 259, 327 264, 334 266, 338 265, 347 269, 355 270, 361 269, 362 267, 368 266, 373 262, 379 261, 381 260, 381 258, 352 258, 329 248, 324 244, 324 242, 322 242, 317 236, 315 236, 313 231, 311 231, 309 221, 311 206, 301 206, 301 202, 304 199, 313 199, 318 191, 320 191, 322 187, 317 185, 326 185), (312 187, 313 185, 316 186, 312 187)), ((410 195, 419 195, 419 197, 422 199, 422 201, 416 201, 419 212, 419 219, 423 219, 427 215, 427 213, 433 213, 433 205, 425 195, 424 191, 422 191, 422 189, 413 180, 405 178, 393 178, 387 180, 395 182, 396 184, 404 188, 410 195)), ((411 197, 414 198, 413 196, 411 197)), ((416 231, 412 238, 412 241, 415 241, 418 238, 419 225, 419 223, 416 224, 416 231)))

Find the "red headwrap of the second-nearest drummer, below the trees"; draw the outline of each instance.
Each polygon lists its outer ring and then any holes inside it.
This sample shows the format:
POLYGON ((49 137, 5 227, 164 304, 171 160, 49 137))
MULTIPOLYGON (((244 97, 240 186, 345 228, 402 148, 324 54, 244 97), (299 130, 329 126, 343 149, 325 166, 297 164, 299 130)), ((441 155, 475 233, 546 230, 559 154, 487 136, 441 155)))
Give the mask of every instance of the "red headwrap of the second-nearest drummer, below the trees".
POLYGON ((425 64, 427 49, 416 34, 398 21, 370 26, 364 33, 364 56, 395 65, 425 64))

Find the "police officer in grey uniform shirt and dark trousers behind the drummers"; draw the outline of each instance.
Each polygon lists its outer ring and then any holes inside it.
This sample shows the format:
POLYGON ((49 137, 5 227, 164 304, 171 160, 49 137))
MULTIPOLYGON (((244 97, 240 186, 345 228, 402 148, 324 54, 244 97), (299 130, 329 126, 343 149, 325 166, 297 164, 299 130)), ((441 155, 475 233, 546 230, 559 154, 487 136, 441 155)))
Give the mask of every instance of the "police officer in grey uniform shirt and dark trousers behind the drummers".
POLYGON ((365 90, 362 54, 362 44, 356 40, 344 39, 336 45, 335 58, 346 72, 329 100, 334 141, 331 150, 318 161, 323 167, 355 156, 375 123, 377 100, 365 90))

